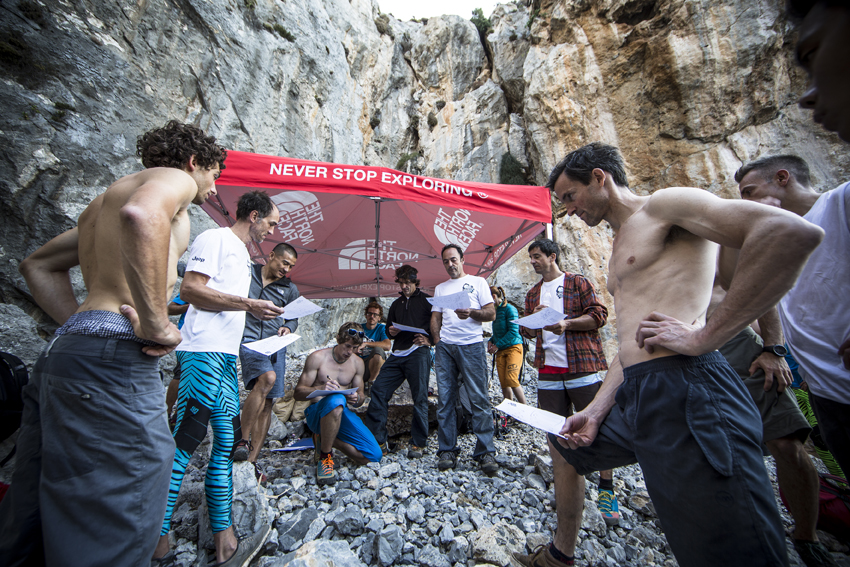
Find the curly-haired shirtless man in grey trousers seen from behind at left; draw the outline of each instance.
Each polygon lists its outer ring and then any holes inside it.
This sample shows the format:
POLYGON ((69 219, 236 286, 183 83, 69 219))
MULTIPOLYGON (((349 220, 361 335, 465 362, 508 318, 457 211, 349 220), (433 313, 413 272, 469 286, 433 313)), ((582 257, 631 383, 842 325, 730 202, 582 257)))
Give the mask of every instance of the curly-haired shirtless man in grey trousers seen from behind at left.
POLYGON ((176 121, 136 147, 148 169, 113 183, 76 228, 20 265, 62 326, 24 389, 17 463, 0 505, 2 565, 32 564, 42 543, 49 565, 142 565, 156 545, 174 455, 159 357, 181 339, 166 306, 189 243, 186 209, 215 194, 227 153, 176 121), (69 276, 77 265, 82 305, 69 276))

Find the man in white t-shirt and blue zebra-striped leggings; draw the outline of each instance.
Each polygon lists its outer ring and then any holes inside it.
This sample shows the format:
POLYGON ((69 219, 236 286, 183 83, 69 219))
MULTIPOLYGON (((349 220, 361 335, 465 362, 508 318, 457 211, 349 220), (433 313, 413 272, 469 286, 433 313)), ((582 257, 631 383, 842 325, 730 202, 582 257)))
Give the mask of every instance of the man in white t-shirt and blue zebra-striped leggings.
POLYGON ((283 308, 271 301, 249 299, 251 258, 246 245, 262 242, 274 231, 280 214, 268 195, 251 191, 239 198, 236 223, 200 234, 189 249, 180 296, 191 304, 177 347, 180 392, 174 466, 168 506, 154 558, 169 551, 168 532, 177 494, 189 459, 213 428, 213 448, 204 483, 210 525, 216 547, 216 564, 245 565, 259 551, 271 531, 265 525, 237 541, 233 533, 232 451, 242 438, 239 421, 239 385, 236 357, 245 328, 245 313, 261 320, 274 319, 283 308))

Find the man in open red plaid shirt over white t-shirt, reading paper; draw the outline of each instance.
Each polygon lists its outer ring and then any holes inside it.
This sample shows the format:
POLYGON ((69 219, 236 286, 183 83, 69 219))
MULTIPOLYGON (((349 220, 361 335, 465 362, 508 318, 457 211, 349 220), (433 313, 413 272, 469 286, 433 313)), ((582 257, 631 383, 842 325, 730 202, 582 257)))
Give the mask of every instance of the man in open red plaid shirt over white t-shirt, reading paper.
MULTIPOLYGON (((564 314, 564 319, 544 327, 520 332, 530 339, 537 339, 534 350, 534 367, 538 369, 537 405, 546 411, 569 417, 573 406, 577 411, 584 409, 599 391, 603 376, 600 371, 608 369, 599 327, 608 320, 608 309, 596 297, 593 285, 583 276, 561 271, 558 260, 560 248, 549 240, 541 239, 528 247, 531 265, 542 279, 525 296, 525 313, 531 314, 551 307, 564 314)), ((550 442, 551 445, 551 442, 550 442)), ((555 508, 558 510, 558 529, 549 550, 554 557, 560 550, 570 550, 581 524, 581 516, 569 514, 567 503, 573 492, 578 490, 583 498, 584 477, 576 485, 564 482, 563 469, 567 462, 554 447, 549 447, 555 473, 555 508)), ((605 522, 619 522, 617 498, 610 470, 599 474, 598 505, 605 522)), ((578 493, 576 493, 578 494, 578 493)))

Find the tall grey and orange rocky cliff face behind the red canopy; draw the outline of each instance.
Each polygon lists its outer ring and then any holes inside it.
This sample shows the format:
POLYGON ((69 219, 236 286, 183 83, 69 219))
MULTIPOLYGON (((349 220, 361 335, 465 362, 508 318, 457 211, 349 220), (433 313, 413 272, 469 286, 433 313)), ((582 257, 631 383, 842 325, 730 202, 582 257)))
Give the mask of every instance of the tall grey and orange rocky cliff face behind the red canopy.
MULTIPOLYGON (((400 22, 369 0, 6 2, 0 302, 26 315, 0 317, 49 332, 18 262, 139 169, 136 136, 170 118, 233 149, 484 182, 510 153, 542 184, 569 150, 602 140, 641 193, 734 196, 742 160, 793 151, 830 188, 850 159, 796 107, 804 77, 781 4, 534 0, 498 7, 482 35, 456 16, 400 22)), ((563 213, 563 267, 604 290, 610 230, 563 213)), ((194 211, 193 236, 209 226, 194 211)), ((495 276, 520 305, 535 280, 522 257, 495 276)), ((334 306, 302 327, 303 348, 359 319, 359 303, 334 306)))

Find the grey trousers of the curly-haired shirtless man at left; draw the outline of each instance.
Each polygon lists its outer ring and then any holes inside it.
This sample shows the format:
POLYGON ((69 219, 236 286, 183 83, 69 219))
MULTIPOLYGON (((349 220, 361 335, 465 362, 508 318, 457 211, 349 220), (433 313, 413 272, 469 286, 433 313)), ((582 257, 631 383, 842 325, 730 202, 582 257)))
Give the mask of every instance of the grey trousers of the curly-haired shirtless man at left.
POLYGON ((40 515, 48 565, 147 565, 174 460, 159 358, 134 341, 63 335, 23 394, 15 472, 0 503, 0 564, 40 545, 21 529, 40 515))

